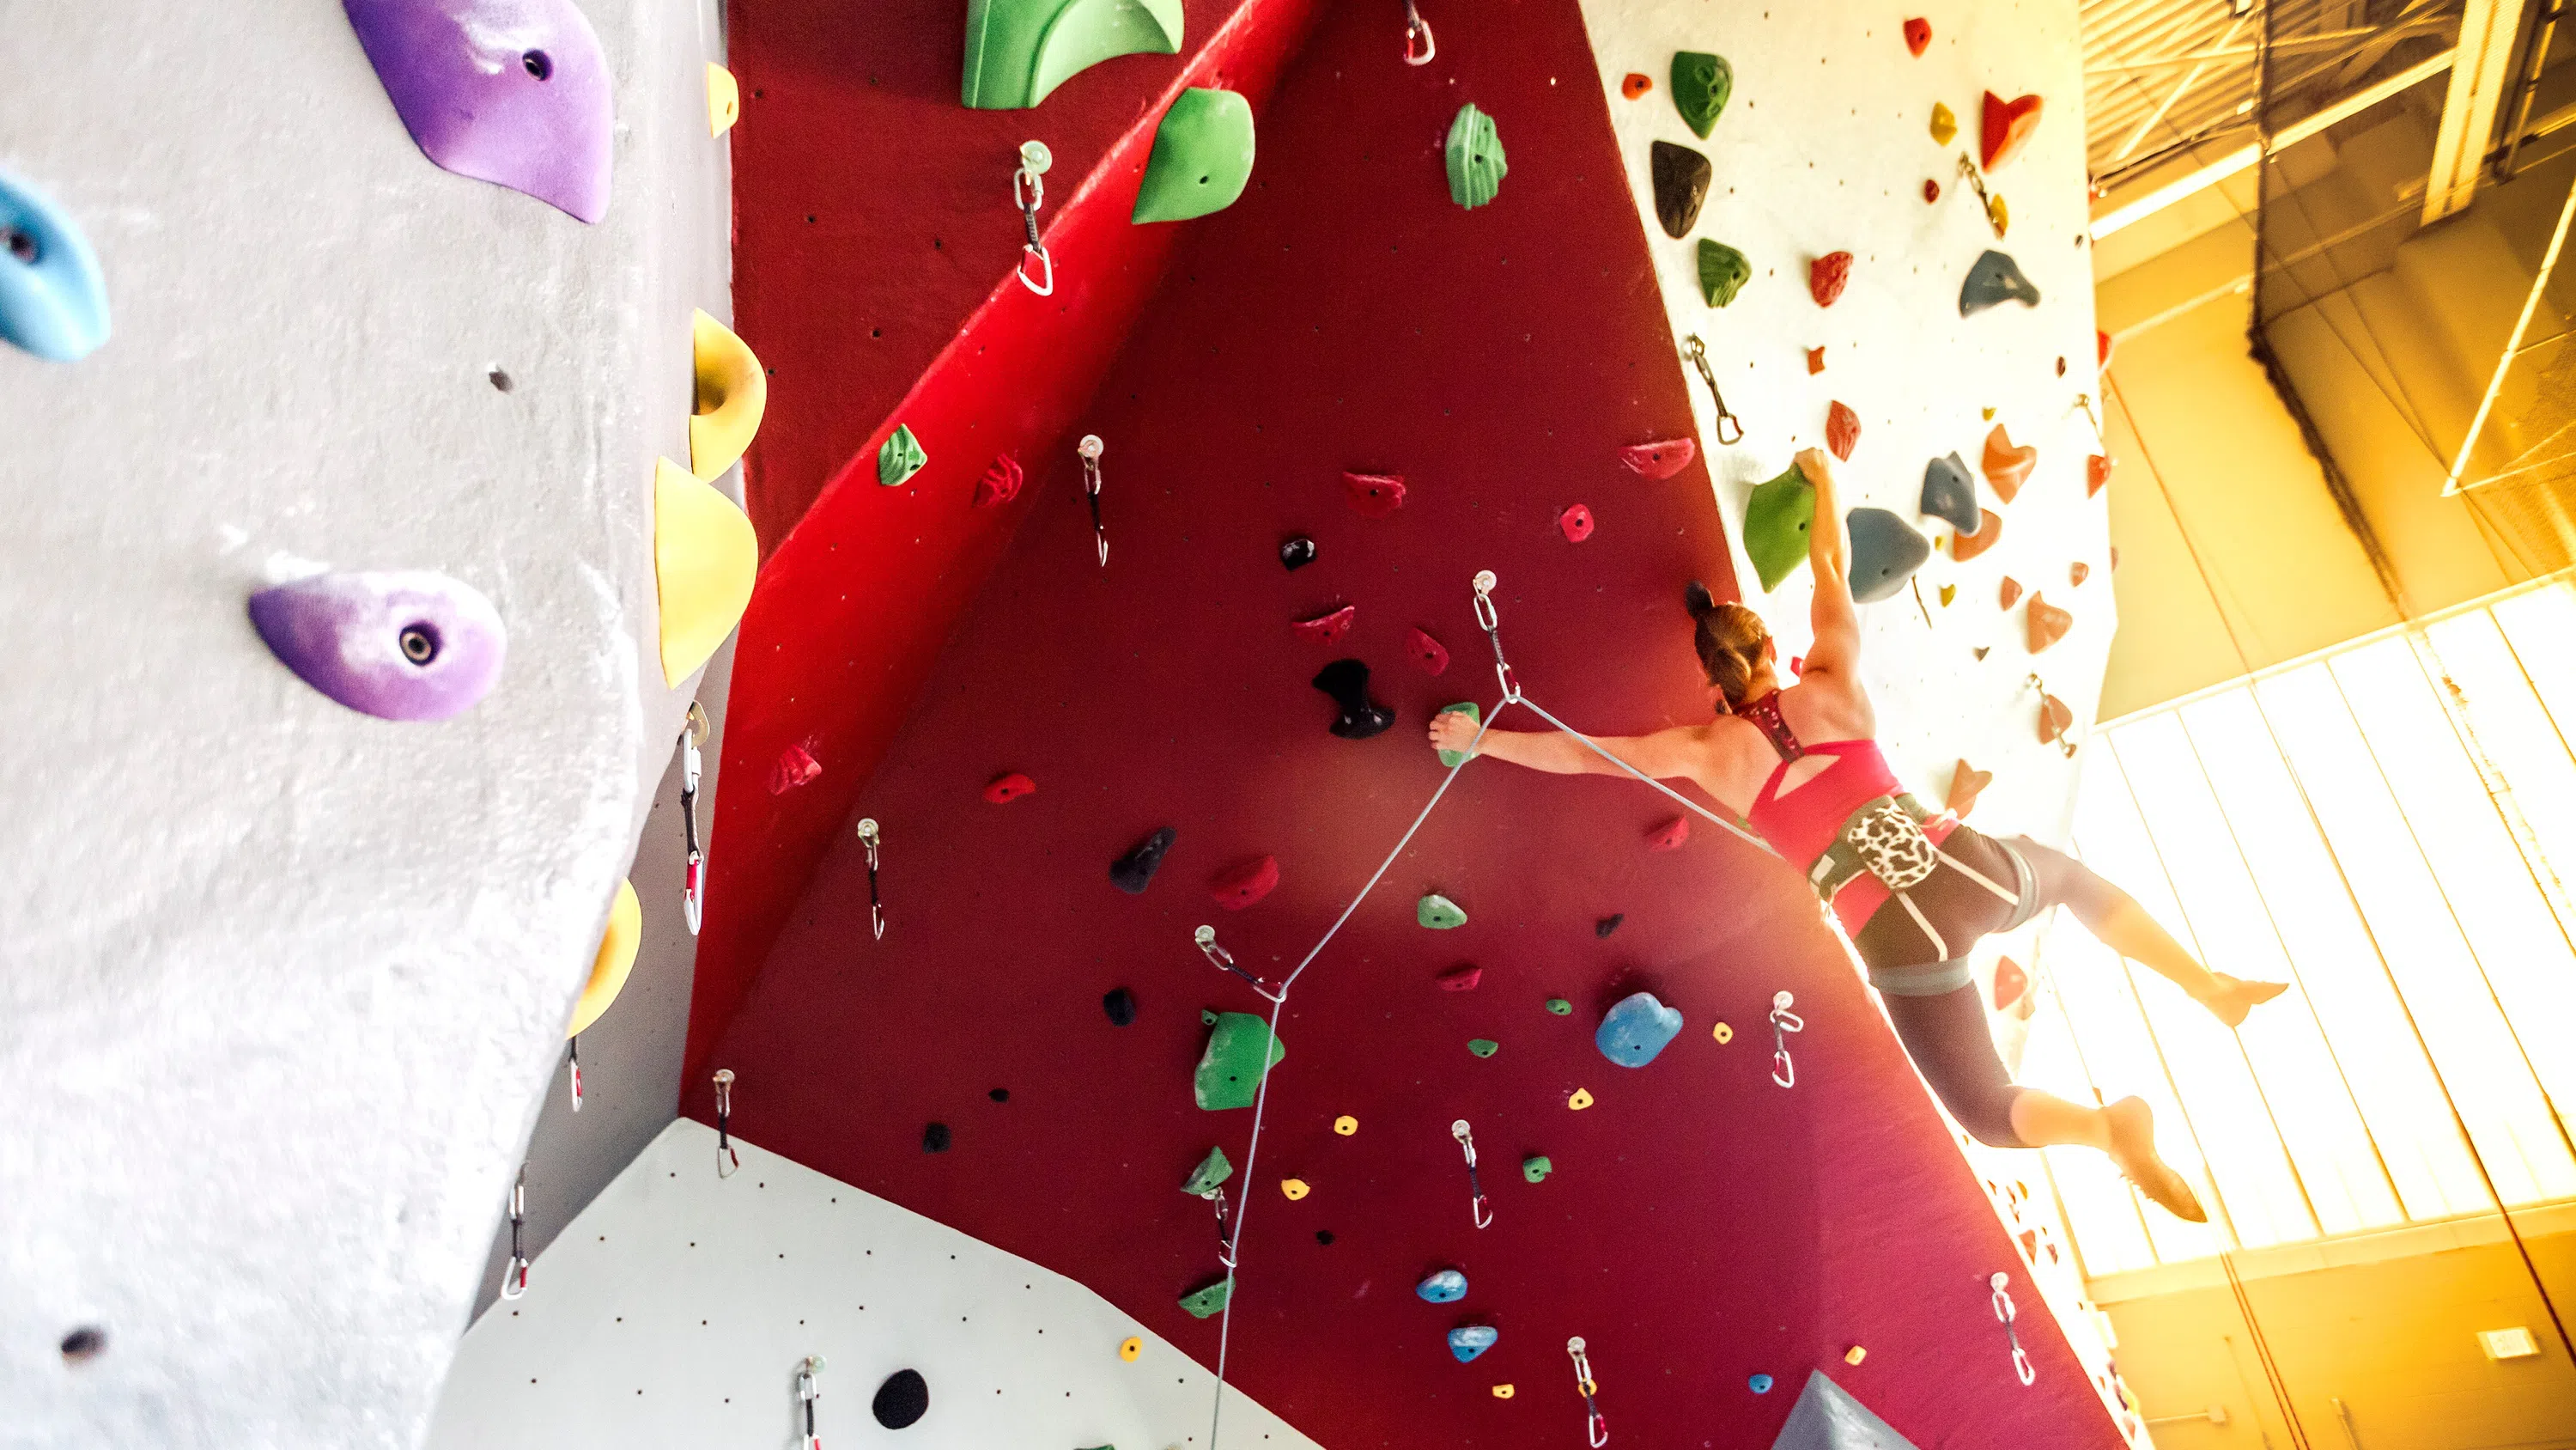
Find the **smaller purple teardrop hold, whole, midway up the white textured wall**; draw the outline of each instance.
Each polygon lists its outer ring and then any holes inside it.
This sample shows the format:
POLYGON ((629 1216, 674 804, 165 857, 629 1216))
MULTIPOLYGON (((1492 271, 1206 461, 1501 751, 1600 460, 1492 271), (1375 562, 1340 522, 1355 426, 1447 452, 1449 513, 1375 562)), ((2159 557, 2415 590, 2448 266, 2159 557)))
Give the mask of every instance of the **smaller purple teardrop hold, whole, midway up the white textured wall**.
POLYGON ((500 680, 510 631, 471 585, 425 569, 317 574, 250 595, 250 626, 299 680, 386 721, 443 721, 500 680))

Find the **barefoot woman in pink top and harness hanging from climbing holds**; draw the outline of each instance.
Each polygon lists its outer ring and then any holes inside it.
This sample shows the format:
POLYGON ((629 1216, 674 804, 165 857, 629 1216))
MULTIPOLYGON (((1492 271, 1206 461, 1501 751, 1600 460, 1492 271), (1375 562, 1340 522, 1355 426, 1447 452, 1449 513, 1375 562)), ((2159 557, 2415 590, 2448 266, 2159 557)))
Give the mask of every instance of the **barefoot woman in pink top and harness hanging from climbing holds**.
MULTIPOLYGON (((1816 489, 1808 531, 1816 641, 1806 670, 1783 688, 1762 616, 1690 585, 1695 644, 1718 719, 1600 744, 1646 775, 1708 791, 1806 876, 1860 950, 1896 1038, 1960 1128, 2007 1149, 2099 1149, 2148 1198, 2205 1223, 2192 1185, 2156 1156, 2146 1100, 2081 1107, 2012 1082, 1986 1030, 1968 948, 2045 907, 2066 907, 2105 945, 2143 961, 2231 1028, 2285 984, 2202 968, 2138 901, 2079 860, 2030 837, 1991 840, 1947 814, 1935 816, 1899 786, 1878 752, 1878 716, 1860 685, 1860 616, 1834 461, 1808 448, 1798 469, 1816 489)), ((1437 749, 1466 749, 1476 724, 1463 713, 1432 716, 1430 737, 1437 749)), ((1620 775, 1561 731, 1486 731, 1479 755, 1556 775, 1620 775)))

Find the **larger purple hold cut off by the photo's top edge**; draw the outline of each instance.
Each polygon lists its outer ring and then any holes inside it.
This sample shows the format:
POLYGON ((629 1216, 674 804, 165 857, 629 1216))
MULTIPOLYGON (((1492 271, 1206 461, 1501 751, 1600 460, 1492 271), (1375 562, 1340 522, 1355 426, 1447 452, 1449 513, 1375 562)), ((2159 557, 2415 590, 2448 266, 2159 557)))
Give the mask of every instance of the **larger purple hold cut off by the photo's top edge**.
POLYGON ((343 0, 420 149, 582 221, 608 214, 616 111, 572 0, 343 0))

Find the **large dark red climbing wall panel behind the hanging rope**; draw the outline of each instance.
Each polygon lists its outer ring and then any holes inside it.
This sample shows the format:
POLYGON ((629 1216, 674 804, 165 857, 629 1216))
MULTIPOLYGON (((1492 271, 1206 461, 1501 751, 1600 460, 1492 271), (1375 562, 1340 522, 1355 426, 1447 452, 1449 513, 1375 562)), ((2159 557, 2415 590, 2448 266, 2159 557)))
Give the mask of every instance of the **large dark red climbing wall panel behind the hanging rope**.
MULTIPOLYGON (((1391 15, 1319 23, 1252 188, 1190 224, 1082 417, 1108 440, 1108 567, 1072 469, 1033 469, 1007 556, 708 1059, 739 1074, 742 1136, 1074 1275, 1208 1362, 1216 1321, 1175 1298, 1216 1275, 1213 1226, 1177 1190, 1211 1144, 1242 1164, 1252 1115, 1193 1105, 1198 1012, 1262 1002, 1190 930, 1216 922, 1278 976, 1360 889, 1440 780, 1425 716, 1494 703, 1471 572, 1502 574, 1533 698, 1605 731, 1705 719, 1680 590, 1731 592, 1705 471, 1651 484, 1615 461, 1690 415, 1574 0, 1489 0, 1422 70, 1391 15), (1481 211, 1440 167, 1463 100, 1512 162, 1481 211), (1358 518, 1342 469, 1401 471, 1404 510, 1358 518), (1556 531, 1574 502, 1587 543, 1556 531), (1321 556, 1288 574, 1293 533, 1321 556), (1342 603, 1342 644, 1288 631, 1342 603), (1445 677, 1406 662, 1409 626, 1450 646, 1445 677), (1396 729, 1327 734, 1309 677, 1340 654, 1370 662, 1396 729), (1038 791, 984 804, 1007 770, 1038 791), (886 837, 884 940, 860 814, 886 837), (1110 860, 1157 827, 1177 829, 1162 876, 1118 894, 1110 860), (1265 852, 1278 891, 1221 912, 1208 883, 1265 852), (1113 986, 1141 1004, 1131 1028, 1100 1010, 1113 986), (922 1151, 930 1120, 951 1151, 922 1151)), ((2014 1380, 1984 1277, 2038 1295, 1798 881, 1705 824, 1649 852, 1669 814, 1623 780, 1461 775, 1285 1015, 1260 1162, 1231 1185, 1249 1226, 1229 1378, 1337 1450, 1564 1447, 1582 1334, 1615 1445, 1767 1445, 1811 1365, 1924 1447, 2117 1445, 2040 1316, 2038 1383, 2014 1380), (1422 891, 1468 925, 1417 927, 1422 891), (1463 961, 1481 986, 1440 992, 1463 961), (1641 986, 1687 1028, 1628 1071, 1592 1025, 1641 986), (1777 989, 1806 1015, 1795 1089, 1770 1082, 1777 989), (1571 1017, 1543 1010, 1556 994, 1571 1017), (1569 1110, 1574 1089, 1597 1105, 1569 1110), (1453 1118, 1484 1151, 1484 1231, 1453 1118), (1525 1154, 1553 1177, 1522 1182, 1525 1154), (1288 1203, 1288 1174, 1314 1192, 1288 1203), (1417 1301, 1443 1265, 1466 1301, 1417 1301), (1473 1365, 1443 1344, 1463 1321, 1502 1332, 1473 1365), (1749 1393, 1752 1373, 1780 1388, 1749 1393)), ((685 1105, 706 1115, 703 1087, 685 1105)))

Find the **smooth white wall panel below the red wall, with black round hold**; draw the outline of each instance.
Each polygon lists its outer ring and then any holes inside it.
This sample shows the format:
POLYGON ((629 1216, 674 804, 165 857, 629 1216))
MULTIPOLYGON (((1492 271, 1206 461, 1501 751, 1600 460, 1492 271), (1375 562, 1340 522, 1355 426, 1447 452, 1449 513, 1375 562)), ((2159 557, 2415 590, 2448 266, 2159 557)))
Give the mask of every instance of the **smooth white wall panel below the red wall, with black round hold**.
MULTIPOLYGON (((739 1144, 739 1141, 737 1141, 739 1144)), ((677 1120, 466 1334, 430 1450, 793 1445, 822 1355, 832 1450, 1164 1450, 1208 1442, 1216 1378, 1079 1283, 677 1120), (1118 1344, 1144 1342, 1121 1360, 1118 1344), (930 1414, 868 1401, 917 1370, 930 1414)), ((1033 1185, 994 1185, 1028 1192, 1033 1185)), ((1239 1391, 1226 1445, 1314 1450, 1239 1391)))

